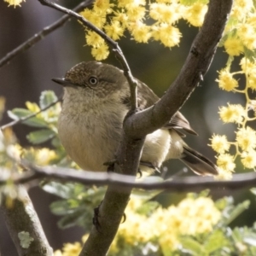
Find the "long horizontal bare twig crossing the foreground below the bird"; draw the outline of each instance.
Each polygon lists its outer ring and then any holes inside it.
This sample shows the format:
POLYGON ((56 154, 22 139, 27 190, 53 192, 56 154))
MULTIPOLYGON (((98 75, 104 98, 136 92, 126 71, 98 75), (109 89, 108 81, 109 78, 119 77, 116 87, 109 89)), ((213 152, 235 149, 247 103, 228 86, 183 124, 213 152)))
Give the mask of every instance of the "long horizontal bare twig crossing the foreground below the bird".
MULTIPOLYGON (((162 189, 171 192, 191 192, 202 189, 237 190, 256 186, 256 172, 234 174, 230 181, 216 181, 212 177, 189 176, 175 177, 162 182, 150 182, 137 180, 131 175, 123 175, 114 172, 79 172, 75 169, 63 167, 39 167, 23 163, 30 171, 9 177, 16 184, 29 183, 42 178, 50 178, 66 182, 82 183, 84 185, 113 185, 123 189, 162 189)), ((1 172, 0 172, 1 173, 1 172)), ((7 183, 9 178, 0 176, 0 185, 7 183)))

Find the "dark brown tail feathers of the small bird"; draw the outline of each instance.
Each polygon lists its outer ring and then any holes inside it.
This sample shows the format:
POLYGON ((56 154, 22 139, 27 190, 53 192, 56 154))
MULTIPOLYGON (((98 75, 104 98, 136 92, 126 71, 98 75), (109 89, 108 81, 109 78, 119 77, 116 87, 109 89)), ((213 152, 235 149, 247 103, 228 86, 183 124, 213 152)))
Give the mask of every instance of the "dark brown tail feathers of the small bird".
POLYGON ((218 175, 218 166, 187 145, 183 145, 183 156, 180 160, 196 174, 202 176, 218 175))

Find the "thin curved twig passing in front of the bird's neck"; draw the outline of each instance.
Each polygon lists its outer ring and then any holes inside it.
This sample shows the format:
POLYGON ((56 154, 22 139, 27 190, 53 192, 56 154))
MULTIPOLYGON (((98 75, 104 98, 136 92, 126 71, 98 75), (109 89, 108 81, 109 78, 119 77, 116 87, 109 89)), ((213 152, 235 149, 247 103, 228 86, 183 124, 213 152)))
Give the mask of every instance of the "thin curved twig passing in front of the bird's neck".
POLYGON ((49 6, 50 8, 56 9, 61 11, 64 14, 73 16, 77 20, 81 21, 81 23, 86 26, 87 28, 91 29, 92 31, 96 32, 99 36, 101 36, 105 42, 113 49, 113 53, 115 54, 116 58, 120 62, 121 66, 123 67, 125 77, 130 85, 131 90, 131 111, 134 111, 137 108, 137 82, 133 79, 131 74, 131 68, 128 65, 128 62, 125 59, 125 55, 123 54, 122 50, 112 38, 109 38, 108 35, 93 24, 91 24, 88 20, 84 19, 82 15, 74 12, 71 9, 67 9, 62 7, 59 4, 49 2, 48 0, 38 0, 43 5, 49 6))

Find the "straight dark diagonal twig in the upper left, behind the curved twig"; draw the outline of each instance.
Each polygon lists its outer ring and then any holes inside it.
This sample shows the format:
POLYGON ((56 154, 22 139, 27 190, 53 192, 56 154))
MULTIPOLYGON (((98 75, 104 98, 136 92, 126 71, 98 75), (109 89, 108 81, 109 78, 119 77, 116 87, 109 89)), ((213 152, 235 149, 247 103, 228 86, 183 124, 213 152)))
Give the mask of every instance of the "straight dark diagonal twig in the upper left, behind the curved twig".
MULTIPOLYGON (((85 0, 83 3, 80 3, 73 10, 79 12, 85 7, 88 7, 92 2, 93 0, 85 0)), ((56 20, 50 26, 44 27, 42 31, 36 33, 34 36, 32 36, 32 38, 29 38, 28 40, 26 40, 26 42, 20 44, 17 48, 13 49, 7 55, 3 56, 3 58, 0 60, 0 67, 9 64, 9 61, 15 58, 15 56, 24 52, 26 49, 30 49, 34 44, 37 44, 39 41, 44 39, 49 33, 54 32, 57 28, 64 26, 68 20, 70 20, 70 15, 63 15, 61 19, 56 20)))

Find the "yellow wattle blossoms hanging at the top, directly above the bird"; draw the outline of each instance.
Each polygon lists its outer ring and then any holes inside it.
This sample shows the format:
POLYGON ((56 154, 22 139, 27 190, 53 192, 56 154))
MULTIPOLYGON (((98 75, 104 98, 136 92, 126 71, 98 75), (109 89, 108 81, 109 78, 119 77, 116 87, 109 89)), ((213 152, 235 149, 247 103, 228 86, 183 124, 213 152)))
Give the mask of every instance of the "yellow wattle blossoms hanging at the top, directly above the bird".
MULTIPOLYGON (((92 9, 84 9, 81 15, 93 25, 106 32, 108 37, 119 40, 125 31, 137 43, 148 43, 149 39, 160 41, 166 47, 179 44, 182 36, 175 24, 184 19, 192 26, 201 26, 207 13, 206 1, 182 4, 178 0, 96 0, 92 9), (154 20, 148 26, 148 20, 154 20)), ((108 45, 96 34, 85 29, 86 44, 92 47, 91 54, 97 61, 106 59, 108 45)))

